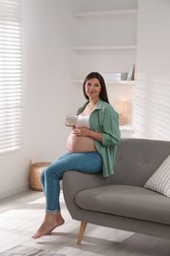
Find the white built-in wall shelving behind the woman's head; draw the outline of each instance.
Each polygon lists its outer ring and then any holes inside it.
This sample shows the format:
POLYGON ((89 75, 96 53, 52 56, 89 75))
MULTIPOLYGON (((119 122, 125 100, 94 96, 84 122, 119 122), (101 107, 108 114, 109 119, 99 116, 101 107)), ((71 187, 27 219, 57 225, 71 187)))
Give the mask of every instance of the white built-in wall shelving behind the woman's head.
MULTIPOLYGON (((132 130, 135 81, 107 79, 107 74, 128 73, 136 63, 137 9, 74 12, 73 83, 83 84, 91 71, 103 75, 110 103, 126 100, 131 106, 126 129, 132 130)), ((123 129, 121 127, 121 129, 123 129)), ((126 130, 123 129, 123 130, 126 130)))

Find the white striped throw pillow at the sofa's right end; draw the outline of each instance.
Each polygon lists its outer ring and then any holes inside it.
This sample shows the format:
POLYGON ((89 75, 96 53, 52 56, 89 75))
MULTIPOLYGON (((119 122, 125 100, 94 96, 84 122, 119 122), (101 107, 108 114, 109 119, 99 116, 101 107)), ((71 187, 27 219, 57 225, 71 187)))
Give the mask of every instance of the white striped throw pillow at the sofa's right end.
POLYGON ((144 187, 170 197, 170 156, 161 163, 144 187))

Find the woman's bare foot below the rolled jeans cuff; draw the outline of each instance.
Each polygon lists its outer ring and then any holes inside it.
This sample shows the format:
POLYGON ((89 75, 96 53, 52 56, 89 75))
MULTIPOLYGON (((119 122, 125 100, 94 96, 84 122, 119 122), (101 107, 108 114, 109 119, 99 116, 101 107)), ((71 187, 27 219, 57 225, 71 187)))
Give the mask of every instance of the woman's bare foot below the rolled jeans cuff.
POLYGON ((64 224, 64 219, 61 214, 46 214, 43 223, 39 226, 32 238, 36 239, 42 235, 48 235, 54 228, 64 224))

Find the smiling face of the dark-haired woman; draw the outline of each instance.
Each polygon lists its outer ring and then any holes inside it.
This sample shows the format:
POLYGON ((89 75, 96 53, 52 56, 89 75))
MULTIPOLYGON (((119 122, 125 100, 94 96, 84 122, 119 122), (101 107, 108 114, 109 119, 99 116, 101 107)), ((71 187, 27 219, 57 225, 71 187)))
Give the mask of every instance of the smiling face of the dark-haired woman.
POLYGON ((101 85, 96 78, 92 78, 85 83, 85 95, 90 99, 97 99, 101 92, 101 85))

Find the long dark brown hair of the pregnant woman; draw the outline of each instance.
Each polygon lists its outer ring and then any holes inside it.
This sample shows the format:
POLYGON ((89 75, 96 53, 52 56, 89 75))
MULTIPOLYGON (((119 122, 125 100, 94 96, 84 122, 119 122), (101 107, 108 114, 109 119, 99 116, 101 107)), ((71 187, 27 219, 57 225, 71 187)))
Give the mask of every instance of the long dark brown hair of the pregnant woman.
POLYGON ((102 100, 109 103, 105 81, 104 81, 103 77, 97 72, 91 72, 85 77, 85 81, 84 81, 84 84, 83 84, 83 90, 84 90, 85 98, 88 99, 88 96, 86 96, 86 94, 85 94, 85 84, 88 80, 93 79, 93 78, 96 78, 99 81, 100 86, 101 86, 101 92, 99 94, 99 98, 101 98, 102 100))

